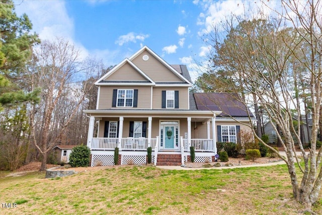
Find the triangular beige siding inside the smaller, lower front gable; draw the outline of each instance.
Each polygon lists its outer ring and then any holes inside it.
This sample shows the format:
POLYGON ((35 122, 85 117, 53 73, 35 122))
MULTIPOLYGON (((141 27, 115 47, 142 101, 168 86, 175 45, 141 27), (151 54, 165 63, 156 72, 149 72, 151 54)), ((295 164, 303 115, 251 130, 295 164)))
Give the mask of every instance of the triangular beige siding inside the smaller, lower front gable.
POLYGON ((125 63, 104 81, 146 81, 129 63, 125 63))

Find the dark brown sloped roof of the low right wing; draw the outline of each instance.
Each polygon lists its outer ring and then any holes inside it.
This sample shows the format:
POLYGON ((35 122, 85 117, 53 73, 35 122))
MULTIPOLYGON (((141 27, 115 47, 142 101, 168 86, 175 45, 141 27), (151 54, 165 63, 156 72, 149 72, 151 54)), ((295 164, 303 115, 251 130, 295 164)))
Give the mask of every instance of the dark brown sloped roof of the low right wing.
POLYGON ((190 109, 222 111, 220 116, 248 117, 249 110, 230 93, 193 93, 190 98, 193 98, 190 109))

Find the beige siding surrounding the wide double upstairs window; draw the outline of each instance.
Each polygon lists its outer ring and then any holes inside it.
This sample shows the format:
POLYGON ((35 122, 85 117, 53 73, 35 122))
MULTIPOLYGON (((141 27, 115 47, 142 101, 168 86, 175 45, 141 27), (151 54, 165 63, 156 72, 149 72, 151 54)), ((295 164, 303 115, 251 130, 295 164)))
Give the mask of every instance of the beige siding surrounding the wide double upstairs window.
MULTIPOLYGON (((107 109, 112 108, 113 100, 113 89, 137 89, 137 108, 133 109, 150 109, 151 106, 151 87, 149 86, 101 86, 100 98, 99 98, 99 108, 107 109)), ((122 107, 115 107, 122 109, 122 107)), ((125 108, 125 107, 124 107, 125 108)), ((123 108, 123 109, 124 109, 123 108)), ((126 107, 125 109, 128 109, 126 107)))

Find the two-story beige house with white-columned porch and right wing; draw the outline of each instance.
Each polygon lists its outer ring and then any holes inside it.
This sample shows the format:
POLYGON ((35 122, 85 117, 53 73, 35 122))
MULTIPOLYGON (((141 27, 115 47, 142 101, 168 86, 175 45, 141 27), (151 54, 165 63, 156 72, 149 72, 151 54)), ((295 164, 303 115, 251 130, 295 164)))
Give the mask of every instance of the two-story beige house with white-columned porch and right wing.
POLYGON ((239 130, 250 129, 226 117, 250 124, 241 103, 228 94, 189 93, 187 67, 168 64, 147 46, 95 84, 97 107, 85 111, 91 166, 114 165, 116 147, 119 164, 145 164, 147 147, 155 165, 184 164, 191 146, 195 162, 214 161, 216 141, 237 142, 239 130), (98 135, 93 137, 95 123, 98 135))

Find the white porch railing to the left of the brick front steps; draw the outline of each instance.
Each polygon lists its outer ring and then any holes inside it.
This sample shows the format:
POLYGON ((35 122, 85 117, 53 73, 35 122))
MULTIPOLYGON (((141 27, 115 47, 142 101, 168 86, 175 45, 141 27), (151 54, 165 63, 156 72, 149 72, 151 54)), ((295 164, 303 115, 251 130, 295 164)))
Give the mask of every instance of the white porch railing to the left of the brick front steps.
MULTIPOLYGON (((92 150, 114 150, 118 146, 119 138, 94 137, 92 138, 92 150)), ((152 150, 156 144, 156 138, 151 138, 152 150)), ((145 151, 148 147, 148 138, 122 138, 121 149, 130 151, 145 151)))

